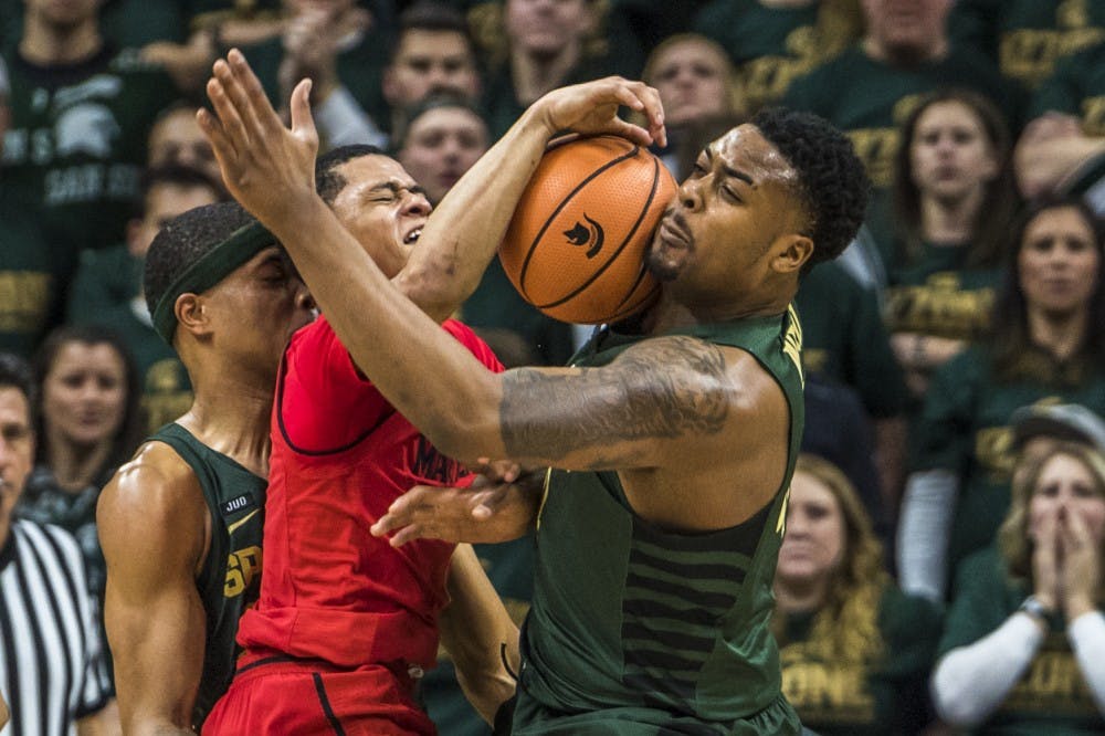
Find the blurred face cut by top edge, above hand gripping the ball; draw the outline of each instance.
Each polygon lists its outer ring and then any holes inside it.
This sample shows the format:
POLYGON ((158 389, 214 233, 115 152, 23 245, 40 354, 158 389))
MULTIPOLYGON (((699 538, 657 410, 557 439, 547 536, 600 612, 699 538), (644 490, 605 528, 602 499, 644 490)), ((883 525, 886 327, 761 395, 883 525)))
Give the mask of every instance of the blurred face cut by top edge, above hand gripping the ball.
POLYGON ((589 0, 507 0, 512 51, 554 59, 578 50, 594 22, 589 0))

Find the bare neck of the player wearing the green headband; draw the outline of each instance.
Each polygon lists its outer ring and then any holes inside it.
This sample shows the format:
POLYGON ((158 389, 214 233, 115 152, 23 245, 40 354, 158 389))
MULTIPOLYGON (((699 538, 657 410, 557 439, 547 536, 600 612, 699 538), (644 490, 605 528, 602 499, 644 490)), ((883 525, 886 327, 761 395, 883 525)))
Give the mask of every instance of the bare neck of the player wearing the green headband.
POLYGON ((178 422, 215 452, 267 475, 274 385, 260 390, 255 382, 199 378, 192 408, 178 422))

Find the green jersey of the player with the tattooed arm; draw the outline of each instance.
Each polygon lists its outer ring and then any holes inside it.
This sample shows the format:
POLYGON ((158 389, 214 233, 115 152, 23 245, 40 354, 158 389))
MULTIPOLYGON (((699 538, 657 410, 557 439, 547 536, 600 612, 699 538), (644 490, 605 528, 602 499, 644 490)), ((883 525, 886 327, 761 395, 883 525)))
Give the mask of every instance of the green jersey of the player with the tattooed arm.
MULTIPOLYGON (((680 534, 638 516, 614 472, 550 471, 515 734, 799 730, 768 619, 804 420, 801 327, 790 309, 674 334, 747 350, 779 383, 791 418, 786 476, 748 521, 680 534)), ((577 364, 609 364, 641 339, 603 330, 577 364)))

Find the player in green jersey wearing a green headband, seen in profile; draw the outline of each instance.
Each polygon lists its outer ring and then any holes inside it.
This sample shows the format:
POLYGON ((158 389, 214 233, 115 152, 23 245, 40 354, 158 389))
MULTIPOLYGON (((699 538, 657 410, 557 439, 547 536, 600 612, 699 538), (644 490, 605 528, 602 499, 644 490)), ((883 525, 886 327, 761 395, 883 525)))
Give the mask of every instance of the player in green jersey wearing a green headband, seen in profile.
POLYGON ((256 600, 276 369, 314 303, 272 235, 229 240, 254 222, 235 202, 199 207, 147 255, 150 312, 166 294, 177 304, 177 323, 158 332, 194 398, 97 507, 127 733, 191 733, 203 722, 233 674, 238 619, 256 600))

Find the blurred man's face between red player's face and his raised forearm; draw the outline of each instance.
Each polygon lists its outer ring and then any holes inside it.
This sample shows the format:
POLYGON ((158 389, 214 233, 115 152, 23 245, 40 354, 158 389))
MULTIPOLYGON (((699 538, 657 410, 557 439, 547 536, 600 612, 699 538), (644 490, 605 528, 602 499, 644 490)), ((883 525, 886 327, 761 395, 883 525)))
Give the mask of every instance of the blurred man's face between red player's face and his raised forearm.
POLYGON ((407 130, 399 161, 439 203, 487 150, 487 125, 466 107, 435 107, 407 130))

